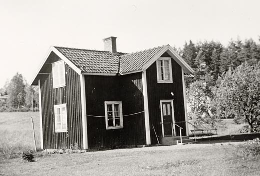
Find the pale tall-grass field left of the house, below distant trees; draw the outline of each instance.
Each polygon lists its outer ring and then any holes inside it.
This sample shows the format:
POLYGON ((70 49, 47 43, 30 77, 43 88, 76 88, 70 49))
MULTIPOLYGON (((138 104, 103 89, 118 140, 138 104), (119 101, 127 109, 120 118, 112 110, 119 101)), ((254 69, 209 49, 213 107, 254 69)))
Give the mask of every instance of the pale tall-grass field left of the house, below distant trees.
MULTIPOLYGON (((40 145, 39 113, 0 113, 0 152, 12 157, 11 153, 34 148, 31 117, 33 117, 36 143, 40 145)), ((1 156, 0 153, 0 156, 1 156)))

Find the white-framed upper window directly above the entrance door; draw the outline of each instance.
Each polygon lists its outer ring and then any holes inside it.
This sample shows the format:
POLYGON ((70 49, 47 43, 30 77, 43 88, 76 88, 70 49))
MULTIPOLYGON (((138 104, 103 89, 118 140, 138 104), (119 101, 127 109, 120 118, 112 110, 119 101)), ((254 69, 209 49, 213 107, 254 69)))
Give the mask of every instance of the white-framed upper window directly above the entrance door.
POLYGON ((157 60, 158 83, 172 83, 171 58, 160 57, 157 60))

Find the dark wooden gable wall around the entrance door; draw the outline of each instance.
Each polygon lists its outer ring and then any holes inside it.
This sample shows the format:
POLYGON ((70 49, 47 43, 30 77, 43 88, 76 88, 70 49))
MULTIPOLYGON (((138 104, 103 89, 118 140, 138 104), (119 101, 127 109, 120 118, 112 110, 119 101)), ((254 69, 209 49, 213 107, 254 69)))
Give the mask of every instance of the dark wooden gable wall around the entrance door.
MULTIPOLYGON (((164 53, 162 56, 170 57, 167 53, 164 53)), ((176 124, 183 127, 182 135, 186 135, 185 123, 177 123, 178 121, 185 121, 181 66, 178 65, 173 59, 171 59, 171 65, 172 65, 173 83, 157 83, 156 62, 154 62, 146 70, 150 133, 151 133, 152 144, 157 143, 156 136, 152 128, 152 124, 154 125, 156 133, 159 136, 160 140, 162 137, 162 127, 160 124, 161 123, 160 100, 174 99, 173 104, 174 104, 175 121, 176 124), (174 97, 171 96, 171 92, 174 93, 174 97)), ((178 127, 176 127, 176 135, 180 135, 178 127)))

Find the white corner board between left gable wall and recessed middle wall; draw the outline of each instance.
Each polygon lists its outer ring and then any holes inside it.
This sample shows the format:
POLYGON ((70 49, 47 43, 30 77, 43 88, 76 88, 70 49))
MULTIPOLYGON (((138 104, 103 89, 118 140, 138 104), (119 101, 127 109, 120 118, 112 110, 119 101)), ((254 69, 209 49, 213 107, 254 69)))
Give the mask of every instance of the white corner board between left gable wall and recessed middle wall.
POLYGON ((87 117, 86 117, 86 92, 85 92, 85 76, 80 74, 80 89, 81 89, 81 108, 82 108, 82 132, 83 132, 83 149, 88 149, 87 137, 87 117))

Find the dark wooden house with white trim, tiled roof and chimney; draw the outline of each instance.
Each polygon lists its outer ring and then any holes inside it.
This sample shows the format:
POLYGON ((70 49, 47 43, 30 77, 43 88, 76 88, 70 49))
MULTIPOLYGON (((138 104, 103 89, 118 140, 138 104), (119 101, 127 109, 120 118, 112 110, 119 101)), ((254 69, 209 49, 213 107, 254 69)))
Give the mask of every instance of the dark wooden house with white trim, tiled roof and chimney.
POLYGON ((31 83, 39 86, 41 148, 157 144, 179 136, 177 125, 187 136, 192 68, 169 45, 125 54, 116 37, 103 41, 104 51, 53 46, 44 58, 31 83))

